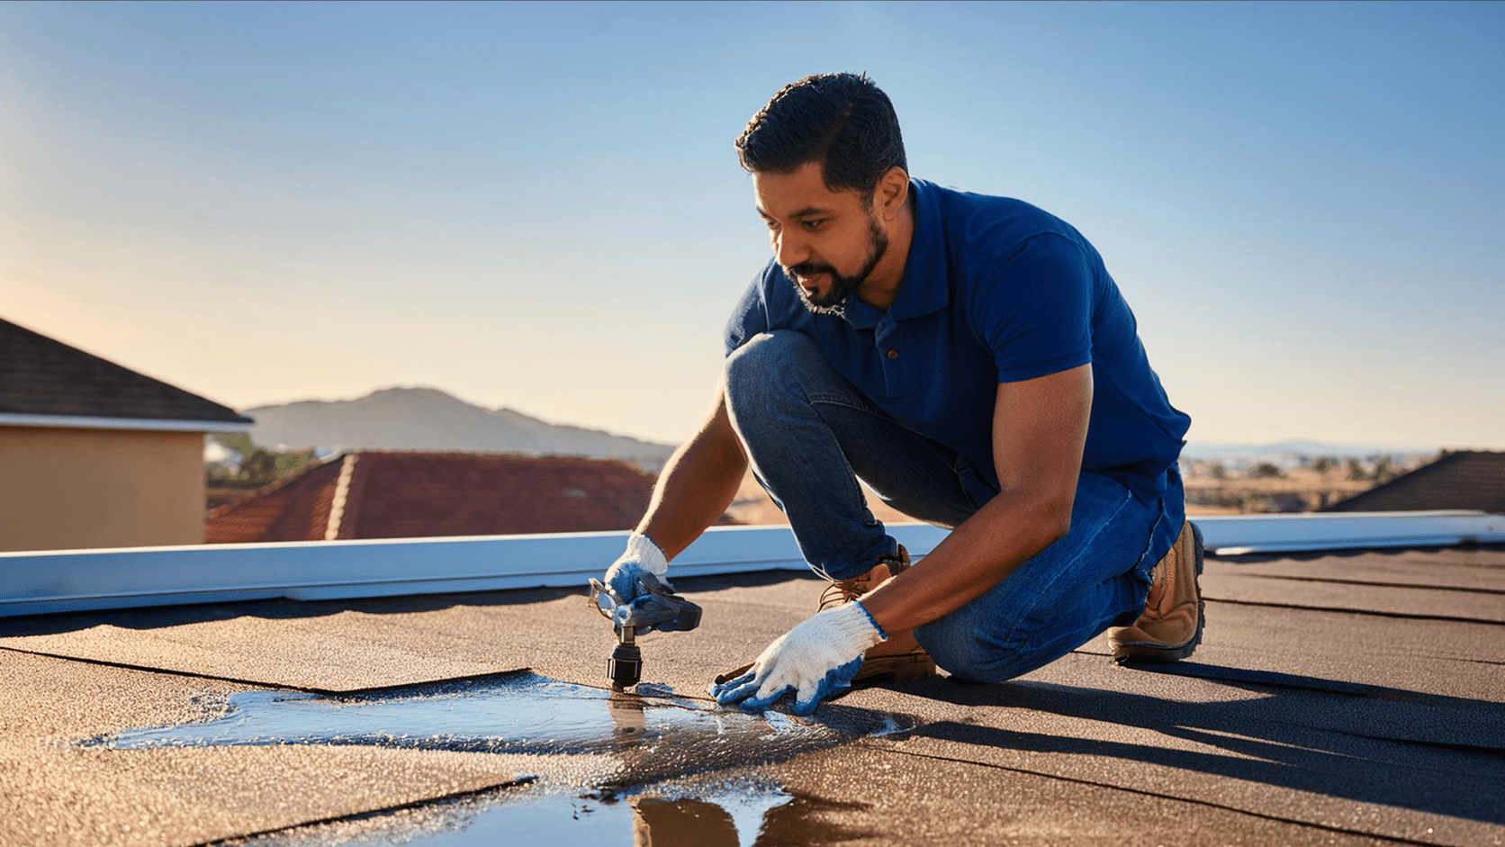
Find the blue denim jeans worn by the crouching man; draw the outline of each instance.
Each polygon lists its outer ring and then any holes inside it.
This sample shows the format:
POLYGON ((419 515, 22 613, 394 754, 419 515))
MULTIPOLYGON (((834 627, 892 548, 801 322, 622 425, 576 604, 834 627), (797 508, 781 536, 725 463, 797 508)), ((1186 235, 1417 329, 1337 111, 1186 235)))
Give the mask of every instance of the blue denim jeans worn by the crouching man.
MULTIPOLYGON (((789 518, 810 567, 828 579, 867 572, 898 543, 873 518, 861 477, 906 515, 956 527, 998 493, 962 456, 905 429, 799 332, 748 340, 727 358, 727 409, 752 474, 789 518)), ((1166 471, 1153 502, 1084 472, 1066 537, 915 638, 957 677, 1026 674, 1144 611, 1154 564, 1181 530, 1181 484, 1166 471)))

